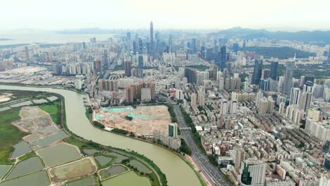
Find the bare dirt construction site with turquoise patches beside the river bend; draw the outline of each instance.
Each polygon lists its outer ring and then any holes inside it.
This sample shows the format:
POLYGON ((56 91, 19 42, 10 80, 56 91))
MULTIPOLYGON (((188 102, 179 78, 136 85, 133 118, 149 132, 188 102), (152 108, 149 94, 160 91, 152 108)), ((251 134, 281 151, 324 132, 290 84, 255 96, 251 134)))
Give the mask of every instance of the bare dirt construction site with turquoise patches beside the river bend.
POLYGON ((140 136, 150 136, 154 130, 167 133, 171 123, 167 106, 102 108, 95 110, 93 116, 106 128, 119 128, 140 136))

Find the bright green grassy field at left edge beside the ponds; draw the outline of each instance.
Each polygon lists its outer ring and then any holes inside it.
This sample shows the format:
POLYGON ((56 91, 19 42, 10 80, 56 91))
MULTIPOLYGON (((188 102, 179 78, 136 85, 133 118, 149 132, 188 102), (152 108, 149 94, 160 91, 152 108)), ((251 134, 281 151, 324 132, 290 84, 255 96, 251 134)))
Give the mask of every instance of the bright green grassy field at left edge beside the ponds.
POLYGON ((8 158, 13 145, 20 142, 27 133, 18 130, 11 122, 19 120, 20 108, 0 112, 0 164, 10 164, 8 158))

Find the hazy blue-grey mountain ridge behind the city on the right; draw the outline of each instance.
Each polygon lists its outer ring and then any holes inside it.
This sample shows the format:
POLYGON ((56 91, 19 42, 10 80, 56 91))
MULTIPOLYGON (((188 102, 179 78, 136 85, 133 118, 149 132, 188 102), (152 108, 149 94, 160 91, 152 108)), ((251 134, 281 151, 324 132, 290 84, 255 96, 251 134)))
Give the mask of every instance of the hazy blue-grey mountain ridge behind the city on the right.
POLYGON ((330 44, 330 31, 299 31, 299 32, 270 32, 268 30, 253 30, 249 28, 233 27, 212 33, 229 38, 254 39, 267 37, 269 39, 295 40, 299 42, 310 42, 311 44, 330 44))

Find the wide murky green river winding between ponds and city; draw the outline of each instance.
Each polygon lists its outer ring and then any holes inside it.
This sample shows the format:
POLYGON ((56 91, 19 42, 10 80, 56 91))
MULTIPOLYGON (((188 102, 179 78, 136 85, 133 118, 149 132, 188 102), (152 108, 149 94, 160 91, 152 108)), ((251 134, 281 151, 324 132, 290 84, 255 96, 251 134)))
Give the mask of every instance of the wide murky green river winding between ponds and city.
POLYGON ((200 181, 193 170, 176 154, 154 144, 133 140, 111 132, 94 128, 85 116, 82 94, 66 89, 52 89, 42 87, 22 87, 0 85, 0 89, 17 89, 29 91, 53 92, 61 94, 66 101, 66 124, 68 129, 76 135, 92 140, 106 146, 121 149, 131 149, 139 154, 144 154, 159 166, 165 173, 168 184, 173 185, 200 185, 200 181))

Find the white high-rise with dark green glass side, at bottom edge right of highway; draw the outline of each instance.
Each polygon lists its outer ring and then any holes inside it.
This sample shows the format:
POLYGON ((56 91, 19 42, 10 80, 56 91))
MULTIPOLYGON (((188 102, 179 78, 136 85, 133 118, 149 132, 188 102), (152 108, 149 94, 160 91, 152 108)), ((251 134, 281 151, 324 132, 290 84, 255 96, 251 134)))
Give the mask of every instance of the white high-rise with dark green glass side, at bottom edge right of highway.
POLYGON ((262 186, 266 175, 266 163, 257 160, 243 160, 241 168, 242 185, 262 186))

